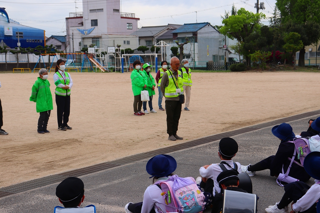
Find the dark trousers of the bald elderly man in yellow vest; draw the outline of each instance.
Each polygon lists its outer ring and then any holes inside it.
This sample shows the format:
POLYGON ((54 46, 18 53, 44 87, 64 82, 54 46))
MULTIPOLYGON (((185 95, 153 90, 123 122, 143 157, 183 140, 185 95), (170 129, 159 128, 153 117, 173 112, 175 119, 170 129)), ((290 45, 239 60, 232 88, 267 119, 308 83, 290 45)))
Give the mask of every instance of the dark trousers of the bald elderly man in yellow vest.
POLYGON ((167 133, 169 136, 177 134, 181 115, 181 106, 182 104, 178 100, 165 100, 165 109, 167 113, 167 133))

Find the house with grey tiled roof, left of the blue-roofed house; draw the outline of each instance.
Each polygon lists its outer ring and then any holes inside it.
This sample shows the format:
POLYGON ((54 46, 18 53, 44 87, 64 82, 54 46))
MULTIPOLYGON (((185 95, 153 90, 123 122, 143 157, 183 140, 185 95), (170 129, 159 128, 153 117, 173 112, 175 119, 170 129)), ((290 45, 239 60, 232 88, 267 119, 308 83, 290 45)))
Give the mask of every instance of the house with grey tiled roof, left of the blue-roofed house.
POLYGON ((182 25, 168 24, 163 26, 141 27, 130 35, 139 36, 139 45, 141 46, 154 45, 157 43, 158 37, 181 26, 182 25))

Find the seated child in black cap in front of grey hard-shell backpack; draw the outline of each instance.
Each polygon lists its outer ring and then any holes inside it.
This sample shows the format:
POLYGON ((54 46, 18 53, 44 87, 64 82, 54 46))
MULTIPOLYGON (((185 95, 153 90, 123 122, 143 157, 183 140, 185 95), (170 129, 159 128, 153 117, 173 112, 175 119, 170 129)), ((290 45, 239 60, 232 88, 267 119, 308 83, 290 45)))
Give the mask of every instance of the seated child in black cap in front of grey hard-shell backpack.
POLYGON ((217 177, 217 182, 221 189, 221 193, 216 193, 213 198, 213 208, 211 213, 220 213, 223 207, 223 189, 244 192, 243 189, 238 188, 239 185, 239 177, 238 173, 235 170, 227 170, 221 172, 217 177))

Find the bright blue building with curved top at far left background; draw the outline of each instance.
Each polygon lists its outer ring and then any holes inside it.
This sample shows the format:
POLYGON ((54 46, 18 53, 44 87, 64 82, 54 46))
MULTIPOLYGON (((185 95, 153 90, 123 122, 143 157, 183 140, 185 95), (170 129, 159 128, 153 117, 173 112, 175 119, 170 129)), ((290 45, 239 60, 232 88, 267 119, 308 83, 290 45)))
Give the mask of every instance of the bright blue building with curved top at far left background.
POLYGON ((9 19, 8 13, 0 7, 0 42, 7 48, 18 47, 18 36, 20 47, 35 48, 44 46, 45 32, 42 29, 21 25, 19 22, 9 19))

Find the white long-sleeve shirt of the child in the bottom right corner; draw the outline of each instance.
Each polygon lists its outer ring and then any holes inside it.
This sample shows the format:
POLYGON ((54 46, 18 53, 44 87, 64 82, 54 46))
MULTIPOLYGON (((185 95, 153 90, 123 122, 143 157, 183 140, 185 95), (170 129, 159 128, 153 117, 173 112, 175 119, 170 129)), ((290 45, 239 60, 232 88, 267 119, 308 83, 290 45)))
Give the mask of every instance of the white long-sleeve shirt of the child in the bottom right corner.
MULTIPOLYGON (((315 180, 317 182, 319 180, 315 180)), ((317 200, 320 199, 320 185, 314 184, 305 195, 292 205, 292 210, 302 212, 309 209, 317 200)))

